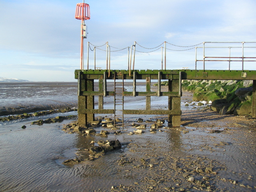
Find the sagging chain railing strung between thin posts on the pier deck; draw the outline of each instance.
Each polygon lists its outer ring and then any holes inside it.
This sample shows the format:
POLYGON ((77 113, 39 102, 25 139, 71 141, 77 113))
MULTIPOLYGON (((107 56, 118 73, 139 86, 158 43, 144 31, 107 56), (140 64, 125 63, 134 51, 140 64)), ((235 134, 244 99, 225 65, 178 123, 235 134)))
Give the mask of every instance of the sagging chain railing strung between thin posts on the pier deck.
POLYGON ((168 42, 163 42, 162 44, 156 46, 156 47, 153 47, 153 48, 146 48, 140 44, 138 44, 137 42, 134 42, 134 44, 132 46, 128 46, 128 47, 125 47, 125 48, 116 48, 114 46, 110 46, 108 45, 108 42, 106 42, 105 44, 101 45, 101 46, 96 46, 96 45, 93 45, 91 44, 90 42, 88 42, 88 52, 87 52, 87 70, 89 69, 89 50, 91 51, 94 51, 94 69, 101 69, 101 68, 97 68, 96 67, 96 49, 98 50, 101 50, 101 51, 106 51, 107 52, 107 56, 106 56, 106 69, 107 70, 110 70, 110 52, 118 52, 118 51, 122 51, 122 50, 125 50, 125 49, 128 49, 128 70, 131 70, 131 65, 132 65, 132 62, 133 62, 133 70, 134 70, 134 63, 135 63, 135 52, 139 52, 139 53, 151 53, 151 52, 156 52, 158 50, 162 50, 162 61, 161 61, 161 68, 163 70, 163 65, 164 65, 164 70, 166 70, 166 50, 171 50, 171 51, 187 51, 187 50, 192 50, 194 48, 196 48, 196 46, 200 45, 200 44, 203 44, 203 43, 199 43, 199 44, 196 44, 196 45, 192 45, 192 46, 178 46, 178 45, 174 45, 174 44, 171 44, 171 43, 168 43, 168 42), (147 50, 150 50, 150 51, 139 51, 139 50, 135 50, 135 47, 136 47, 136 44, 137 46, 140 46, 141 48, 143 49, 147 49, 147 50), (169 49, 169 48, 166 48, 166 44, 169 44, 171 46, 176 46, 176 47, 180 47, 180 48, 187 48, 187 49, 183 49, 183 50, 175 50, 175 49, 169 49), (106 45, 106 50, 104 50, 103 46, 106 45), (164 46, 162 46, 164 45, 164 46), (91 48, 91 46, 93 46, 93 48, 91 48), (116 50, 111 50, 110 51, 110 48, 114 48, 116 50), (163 50, 164 49, 164 50, 163 50), (133 50, 133 58, 132 58, 132 50, 133 50), (133 61, 132 61, 133 59, 133 61))

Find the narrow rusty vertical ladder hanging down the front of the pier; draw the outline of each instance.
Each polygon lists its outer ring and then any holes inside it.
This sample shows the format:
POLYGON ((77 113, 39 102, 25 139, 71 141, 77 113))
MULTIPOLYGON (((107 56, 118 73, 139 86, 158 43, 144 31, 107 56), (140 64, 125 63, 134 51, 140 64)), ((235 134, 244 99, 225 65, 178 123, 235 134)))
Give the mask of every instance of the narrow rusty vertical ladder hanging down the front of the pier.
POLYGON ((114 74, 114 126, 117 125, 116 120, 122 119, 122 127, 124 127, 124 72, 115 72, 114 74), (121 82, 116 80, 121 79, 121 82))

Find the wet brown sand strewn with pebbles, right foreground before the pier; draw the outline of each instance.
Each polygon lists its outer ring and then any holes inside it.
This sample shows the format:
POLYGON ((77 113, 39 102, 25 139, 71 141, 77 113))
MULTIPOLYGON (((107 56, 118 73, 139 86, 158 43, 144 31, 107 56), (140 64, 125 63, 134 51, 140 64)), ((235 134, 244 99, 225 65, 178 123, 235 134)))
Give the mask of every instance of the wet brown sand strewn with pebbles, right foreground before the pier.
MULTIPOLYGON (((192 101, 184 92, 182 102, 192 101)), ((94 161, 92 173, 106 171, 90 189, 97 192, 159 191, 256 191, 256 122, 245 116, 220 115, 207 106, 182 111, 182 126, 171 128, 165 123, 157 132, 150 124, 166 116, 127 117, 120 135, 85 136, 78 156, 86 154, 91 141, 118 139, 121 151, 109 152, 94 161), (153 120, 142 134, 129 135, 137 118, 153 120), (120 153, 121 152, 121 153, 120 153), (106 163, 108 160, 112 164, 106 163), (104 164, 104 166, 101 166, 104 164), (106 168, 105 166, 108 166, 106 168)), ((106 128, 96 127, 96 132, 106 128)), ((87 177, 86 177, 87 178, 87 177)))

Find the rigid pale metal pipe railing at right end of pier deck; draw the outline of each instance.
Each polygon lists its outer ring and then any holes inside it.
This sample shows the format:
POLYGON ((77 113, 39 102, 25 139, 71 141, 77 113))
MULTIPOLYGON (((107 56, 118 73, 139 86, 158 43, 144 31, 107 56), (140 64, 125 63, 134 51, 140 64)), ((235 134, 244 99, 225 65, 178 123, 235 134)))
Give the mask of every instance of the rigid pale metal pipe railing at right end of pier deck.
MULTIPOLYGON (((242 70, 244 70, 244 62, 256 62, 256 57, 245 57, 244 56, 244 49, 245 48, 256 48, 256 42, 203 42, 202 47, 196 47, 196 64, 195 64, 195 69, 197 68, 197 62, 202 61, 203 62, 203 69, 205 70, 205 62, 228 62, 228 70, 230 70, 230 62, 241 62, 242 64, 242 70), (206 44, 242 44, 241 46, 206 46, 206 44), (244 44, 252 45, 254 46, 244 46, 244 44), (202 48, 203 51, 203 59, 198 60, 198 48, 202 48), (228 49, 228 56, 206 56, 206 50, 207 49, 218 49, 218 50, 223 50, 223 49, 228 49), (240 54, 239 56, 231 56, 231 49, 240 49, 240 54), (254 60, 252 60, 254 59, 254 60)), ((212 52, 211 52, 212 53, 212 52)), ((223 53, 223 52, 222 52, 223 53)), ((254 53, 255 54, 255 53, 254 53)))

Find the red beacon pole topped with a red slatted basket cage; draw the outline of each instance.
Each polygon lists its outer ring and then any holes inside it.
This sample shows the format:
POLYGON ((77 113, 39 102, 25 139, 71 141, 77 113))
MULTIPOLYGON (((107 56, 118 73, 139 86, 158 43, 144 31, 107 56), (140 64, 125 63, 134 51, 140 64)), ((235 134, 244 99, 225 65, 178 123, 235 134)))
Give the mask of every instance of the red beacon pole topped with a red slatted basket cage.
POLYGON ((76 4, 76 19, 81 20, 81 63, 80 69, 84 69, 84 38, 87 38, 87 26, 84 23, 84 20, 90 19, 90 6, 86 3, 76 4))

